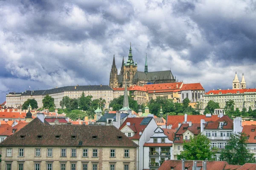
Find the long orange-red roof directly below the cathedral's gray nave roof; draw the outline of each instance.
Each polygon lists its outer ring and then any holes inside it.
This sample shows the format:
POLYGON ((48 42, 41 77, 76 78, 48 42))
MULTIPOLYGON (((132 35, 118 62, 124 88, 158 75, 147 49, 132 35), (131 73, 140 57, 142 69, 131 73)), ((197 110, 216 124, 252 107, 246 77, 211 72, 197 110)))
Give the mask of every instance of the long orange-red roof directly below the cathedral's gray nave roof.
POLYGON ((147 88, 148 93, 160 93, 160 92, 173 92, 174 90, 180 90, 183 82, 173 82, 173 83, 161 83, 152 85, 143 85, 147 88))

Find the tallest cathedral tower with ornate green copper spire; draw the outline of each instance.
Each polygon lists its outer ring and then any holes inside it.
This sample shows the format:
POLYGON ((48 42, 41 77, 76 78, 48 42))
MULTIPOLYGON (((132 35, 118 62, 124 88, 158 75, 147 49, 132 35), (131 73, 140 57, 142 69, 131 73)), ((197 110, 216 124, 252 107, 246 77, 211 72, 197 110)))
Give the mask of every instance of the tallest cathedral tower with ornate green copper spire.
MULTIPOLYGON (((127 87, 132 85, 132 79, 137 72, 137 63, 134 63, 131 54, 131 43, 130 43, 130 50, 128 55, 128 61, 123 65, 123 82, 127 83, 127 87)), ((124 86, 124 83, 122 83, 124 86)))

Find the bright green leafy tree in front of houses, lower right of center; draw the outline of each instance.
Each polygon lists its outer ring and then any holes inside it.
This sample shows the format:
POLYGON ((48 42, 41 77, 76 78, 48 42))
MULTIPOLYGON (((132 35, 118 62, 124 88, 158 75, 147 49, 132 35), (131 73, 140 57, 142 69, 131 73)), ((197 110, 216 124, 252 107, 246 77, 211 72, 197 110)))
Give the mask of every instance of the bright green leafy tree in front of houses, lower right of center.
POLYGON ((190 138, 189 142, 183 143, 183 151, 178 155, 178 159, 186 160, 212 160, 214 152, 211 150, 209 139, 199 134, 190 138))

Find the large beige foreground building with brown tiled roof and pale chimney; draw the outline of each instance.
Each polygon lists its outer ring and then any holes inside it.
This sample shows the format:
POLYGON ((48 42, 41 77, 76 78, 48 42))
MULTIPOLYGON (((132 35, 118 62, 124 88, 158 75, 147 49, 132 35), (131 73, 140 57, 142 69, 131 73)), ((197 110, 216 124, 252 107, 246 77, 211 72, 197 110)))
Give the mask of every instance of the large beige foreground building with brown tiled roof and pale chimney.
POLYGON ((0 143, 0 168, 136 170, 137 147, 114 126, 49 125, 44 114, 38 113, 37 118, 0 143))

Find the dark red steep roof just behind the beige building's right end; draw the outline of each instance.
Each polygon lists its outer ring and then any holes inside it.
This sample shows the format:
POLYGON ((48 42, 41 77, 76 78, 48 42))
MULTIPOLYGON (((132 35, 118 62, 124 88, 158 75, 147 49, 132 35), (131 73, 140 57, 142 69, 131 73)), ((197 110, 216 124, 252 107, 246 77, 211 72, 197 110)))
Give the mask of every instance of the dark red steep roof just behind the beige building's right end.
MULTIPOLYGON (((133 130, 135 132, 134 136, 128 137, 129 139, 140 139, 140 132, 143 133, 143 131, 145 130, 145 128, 148 125, 140 125, 140 123, 143 121, 145 117, 128 117, 125 122, 121 125, 121 127, 119 127, 119 130, 122 130, 123 127, 125 127, 127 122, 130 122, 131 125, 127 125, 131 130, 133 130)), ((152 119, 150 119, 150 121, 152 121, 152 119)), ((149 122, 150 122, 149 121, 149 122)), ((148 124, 149 124, 148 122, 148 124)))

